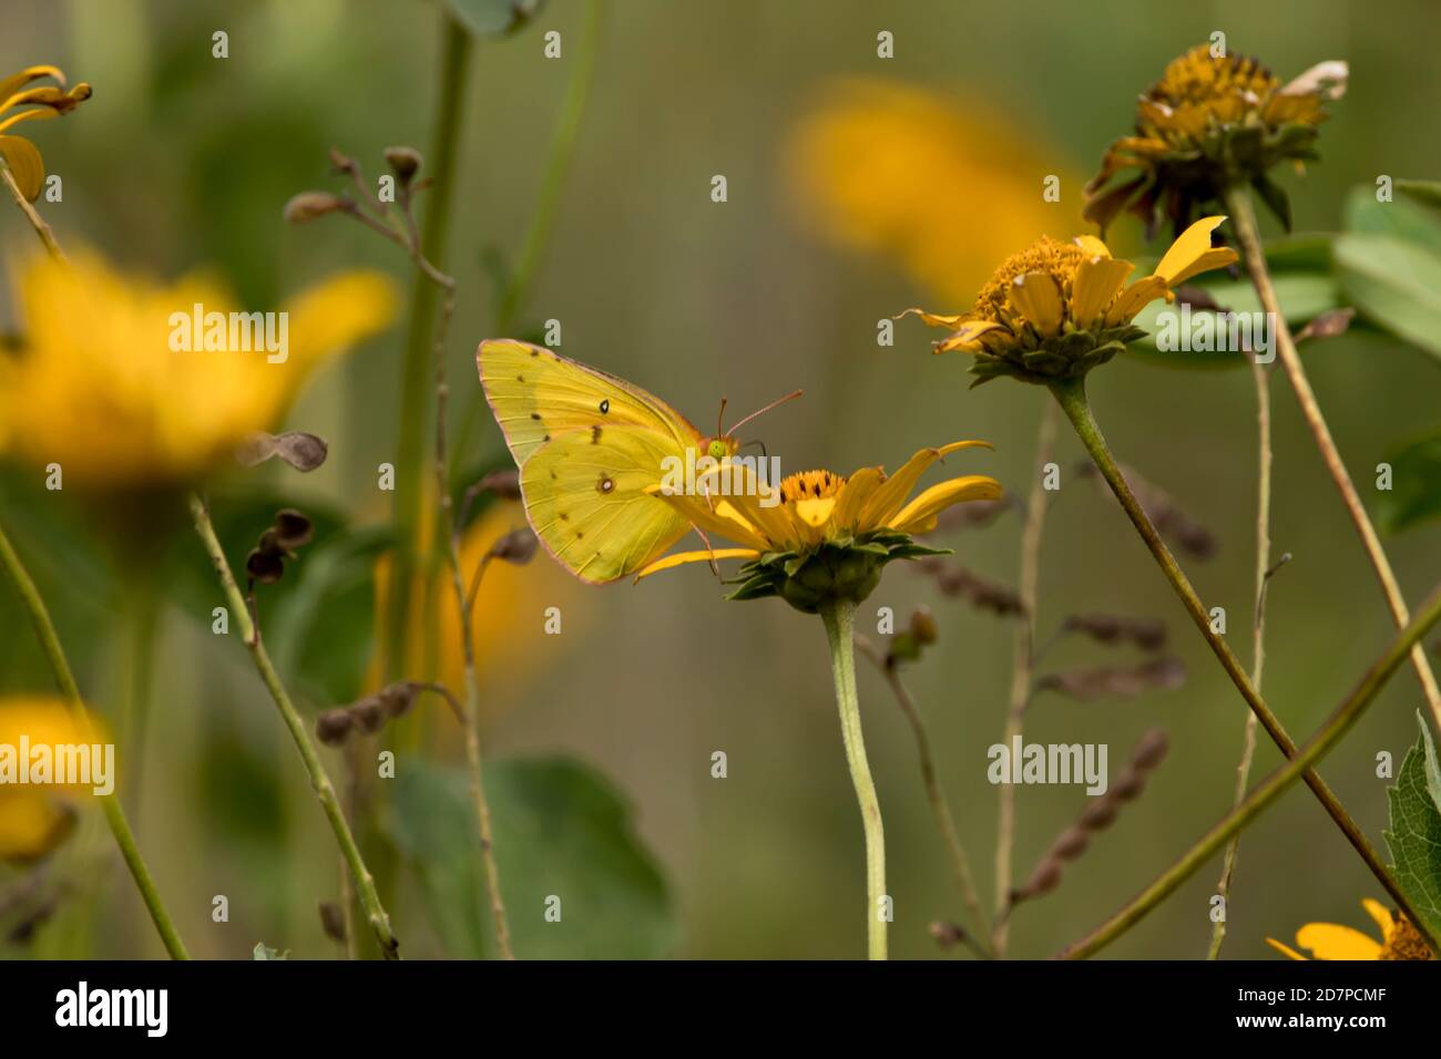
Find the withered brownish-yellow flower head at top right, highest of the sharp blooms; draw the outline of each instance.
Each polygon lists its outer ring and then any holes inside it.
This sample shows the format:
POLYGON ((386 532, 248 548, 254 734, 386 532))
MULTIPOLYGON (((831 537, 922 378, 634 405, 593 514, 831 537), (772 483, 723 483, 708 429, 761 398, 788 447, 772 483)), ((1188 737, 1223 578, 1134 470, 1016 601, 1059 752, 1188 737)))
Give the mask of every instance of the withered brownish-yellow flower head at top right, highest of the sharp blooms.
POLYGON ((1331 61, 1282 85, 1257 59, 1193 48, 1136 104, 1136 134, 1107 150, 1085 187, 1085 218, 1102 235, 1121 210, 1146 222, 1147 238, 1166 219, 1180 232, 1228 186, 1249 183, 1290 228, 1285 193, 1267 170, 1316 158, 1321 105, 1346 92, 1346 63, 1331 61))

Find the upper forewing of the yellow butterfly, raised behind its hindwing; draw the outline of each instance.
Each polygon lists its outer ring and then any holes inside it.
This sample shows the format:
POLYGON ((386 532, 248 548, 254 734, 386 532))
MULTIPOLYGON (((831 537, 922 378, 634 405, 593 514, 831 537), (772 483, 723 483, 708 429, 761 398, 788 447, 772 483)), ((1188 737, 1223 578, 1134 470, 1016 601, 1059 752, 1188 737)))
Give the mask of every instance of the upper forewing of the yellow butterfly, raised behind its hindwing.
POLYGON ((550 437, 597 424, 648 426, 673 438, 682 452, 700 442, 700 431, 660 398, 540 346, 488 339, 480 343, 476 362, 517 467, 550 437))

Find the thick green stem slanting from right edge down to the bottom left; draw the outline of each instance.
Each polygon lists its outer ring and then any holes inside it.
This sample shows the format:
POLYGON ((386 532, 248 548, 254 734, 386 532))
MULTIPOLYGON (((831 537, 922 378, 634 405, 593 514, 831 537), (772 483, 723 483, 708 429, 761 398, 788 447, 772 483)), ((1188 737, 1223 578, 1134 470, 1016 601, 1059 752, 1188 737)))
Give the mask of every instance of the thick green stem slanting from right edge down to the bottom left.
MULTIPOLYGON (((1202 864, 1205 864, 1221 846, 1231 839, 1231 836, 1238 834, 1242 827, 1249 824, 1267 805, 1274 803, 1281 794, 1295 782, 1295 778, 1306 775, 1313 765, 1316 765, 1321 758, 1330 752, 1342 736, 1350 729, 1352 725, 1365 713, 1366 707, 1375 702, 1376 694, 1386 684, 1386 682, 1395 674, 1395 671, 1406 661, 1406 656, 1411 648, 1421 641, 1421 637, 1441 621, 1441 588, 1431 594, 1431 598, 1422 604, 1421 612, 1408 624, 1391 643, 1385 654, 1366 671, 1366 676, 1360 679, 1356 689, 1346 697, 1346 700, 1326 719, 1320 730, 1311 736, 1306 746, 1303 746, 1291 759, 1278 768, 1275 772, 1268 775, 1261 784, 1231 813, 1221 818, 1206 834, 1196 841, 1182 857, 1166 869, 1157 879, 1141 890, 1136 898, 1125 903, 1121 911, 1101 924, 1098 928, 1091 931, 1085 938, 1076 941, 1061 952, 1058 958, 1062 960, 1082 960, 1085 957, 1094 955, 1105 948, 1110 942, 1115 941, 1121 934, 1124 934, 1130 926, 1137 924, 1147 912, 1150 912, 1156 905, 1159 905, 1169 893, 1172 893, 1177 886, 1180 886, 1186 879, 1189 879, 1202 864)), ((1406 911, 1402 905, 1402 911, 1417 926, 1417 929, 1425 932, 1425 922, 1417 919, 1406 911)), ((1441 945, 1438 945, 1437 938, 1428 935, 1428 941, 1434 949, 1441 952, 1441 945)))

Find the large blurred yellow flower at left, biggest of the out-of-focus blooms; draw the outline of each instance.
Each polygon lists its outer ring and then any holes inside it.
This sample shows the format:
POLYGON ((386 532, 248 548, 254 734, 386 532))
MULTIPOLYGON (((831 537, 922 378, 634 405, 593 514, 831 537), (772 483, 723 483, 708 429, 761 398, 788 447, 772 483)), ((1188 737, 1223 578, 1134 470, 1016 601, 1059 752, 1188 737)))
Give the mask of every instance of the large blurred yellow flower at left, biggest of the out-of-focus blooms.
POLYGON ((32 256, 16 301, 24 334, 0 359, 0 455, 58 463, 66 484, 108 491, 203 475, 272 428, 311 370, 385 327, 396 295, 363 271, 307 290, 269 314, 284 356, 252 347, 246 320, 265 314, 235 313, 213 278, 157 282, 85 248, 72 248, 69 265, 32 256), (212 318, 231 321, 223 334, 212 318))

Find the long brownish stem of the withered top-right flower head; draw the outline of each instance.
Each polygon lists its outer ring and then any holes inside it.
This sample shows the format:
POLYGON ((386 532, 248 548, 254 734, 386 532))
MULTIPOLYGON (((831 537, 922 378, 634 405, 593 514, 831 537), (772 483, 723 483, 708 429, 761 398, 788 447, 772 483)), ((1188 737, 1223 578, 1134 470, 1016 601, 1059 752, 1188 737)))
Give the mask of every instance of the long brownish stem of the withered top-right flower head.
MULTIPOLYGON (((1330 426, 1326 425, 1326 416, 1321 415, 1316 392, 1311 389, 1310 379, 1306 377, 1301 356, 1295 352, 1295 339, 1291 336, 1291 329, 1285 324, 1281 303, 1277 300, 1275 288, 1271 285, 1271 272, 1267 269, 1265 251, 1261 248, 1261 232, 1257 226, 1255 209, 1251 206, 1251 190, 1244 184, 1232 186, 1226 189, 1223 197, 1226 209, 1231 212, 1231 225, 1236 232, 1236 242, 1241 243, 1241 255, 1245 258, 1246 272, 1251 274, 1251 284, 1261 298, 1261 307, 1275 321, 1275 344, 1281 353, 1281 365, 1285 367, 1285 375, 1291 380, 1291 389, 1295 390, 1295 399, 1301 405, 1301 416, 1306 419, 1311 437, 1316 438, 1321 461, 1326 464, 1331 481, 1336 483, 1336 488, 1340 490, 1346 513, 1360 535, 1366 555, 1370 558, 1370 565, 1376 569, 1376 578, 1386 594, 1386 604, 1391 607, 1391 615, 1396 622, 1396 628, 1404 628, 1411 620, 1411 614, 1406 611, 1406 599, 1396 584, 1391 560, 1386 559, 1386 552, 1380 546, 1380 537, 1376 536, 1376 527, 1370 524, 1370 516, 1366 514, 1360 494, 1356 493, 1356 484, 1352 481, 1350 473, 1342 461, 1342 454, 1331 439, 1330 426)), ((1417 644, 1411 651, 1411 664, 1417 670, 1417 679, 1421 682, 1427 702, 1431 706, 1431 716, 1435 726, 1441 730, 1441 687, 1437 686, 1431 663, 1427 660, 1425 648, 1421 644, 1417 644)))

